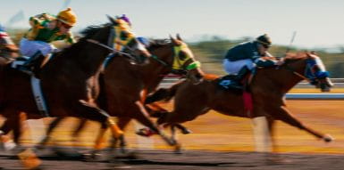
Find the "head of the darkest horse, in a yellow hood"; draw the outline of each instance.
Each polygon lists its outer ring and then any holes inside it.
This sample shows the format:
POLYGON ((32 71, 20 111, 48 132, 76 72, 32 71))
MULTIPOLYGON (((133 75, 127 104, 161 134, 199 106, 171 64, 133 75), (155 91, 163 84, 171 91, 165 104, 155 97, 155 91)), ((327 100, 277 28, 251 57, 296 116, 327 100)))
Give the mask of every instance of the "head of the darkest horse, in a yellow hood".
POLYGON ((147 61, 146 59, 150 57, 151 54, 131 32, 130 22, 124 20, 123 17, 113 19, 112 17, 108 16, 108 19, 114 26, 113 39, 115 43, 115 49, 132 54, 138 62, 147 61))

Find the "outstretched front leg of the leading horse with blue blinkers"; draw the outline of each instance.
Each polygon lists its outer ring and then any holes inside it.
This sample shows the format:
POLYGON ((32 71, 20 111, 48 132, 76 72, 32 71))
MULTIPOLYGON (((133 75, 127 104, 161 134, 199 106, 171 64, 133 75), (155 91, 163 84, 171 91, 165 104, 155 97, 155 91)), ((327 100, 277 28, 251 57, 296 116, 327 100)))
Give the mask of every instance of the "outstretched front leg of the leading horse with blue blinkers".
POLYGON ((300 121, 298 121, 298 119, 296 117, 291 115, 289 110, 287 108, 285 108, 284 106, 281 106, 279 108, 274 108, 272 113, 273 113, 272 116, 275 117, 276 119, 280 119, 281 121, 283 121, 289 125, 298 127, 301 130, 305 130, 309 134, 313 134, 313 135, 315 135, 315 137, 317 137, 319 139, 323 139, 324 142, 331 142, 333 140, 330 135, 319 133, 319 132, 307 127, 306 125, 303 125, 300 121))

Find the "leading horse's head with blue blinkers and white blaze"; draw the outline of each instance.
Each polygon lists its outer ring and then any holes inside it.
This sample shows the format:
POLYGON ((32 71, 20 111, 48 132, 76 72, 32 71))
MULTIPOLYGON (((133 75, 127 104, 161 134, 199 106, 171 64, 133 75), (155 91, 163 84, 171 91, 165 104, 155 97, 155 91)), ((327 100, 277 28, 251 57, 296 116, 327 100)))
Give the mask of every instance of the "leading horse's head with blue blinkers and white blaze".
POLYGON ((306 57, 305 77, 310 80, 310 84, 321 88, 322 92, 329 92, 333 84, 323 61, 315 53, 306 53, 306 57))

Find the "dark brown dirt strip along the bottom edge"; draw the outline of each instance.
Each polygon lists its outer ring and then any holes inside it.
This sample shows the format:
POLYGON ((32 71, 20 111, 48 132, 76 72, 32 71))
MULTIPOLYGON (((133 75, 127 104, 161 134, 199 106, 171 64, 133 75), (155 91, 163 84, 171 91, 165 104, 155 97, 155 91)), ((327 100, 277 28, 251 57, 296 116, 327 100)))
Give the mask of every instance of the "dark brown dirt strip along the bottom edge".
MULTIPOLYGON (((337 170, 344 166, 344 155, 278 154, 267 156, 256 152, 216 152, 185 150, 174 154, 168 150, 136 150, 136 159, 117 159, 111 163, 103 156, 90 162, 80 158, 40 154, 41 169, 290 169, 337 170)), ((111 159, 113 160, 113 159, 111 159)), ((0 169, 24 169, 13 154, 0 154, 0 169)))

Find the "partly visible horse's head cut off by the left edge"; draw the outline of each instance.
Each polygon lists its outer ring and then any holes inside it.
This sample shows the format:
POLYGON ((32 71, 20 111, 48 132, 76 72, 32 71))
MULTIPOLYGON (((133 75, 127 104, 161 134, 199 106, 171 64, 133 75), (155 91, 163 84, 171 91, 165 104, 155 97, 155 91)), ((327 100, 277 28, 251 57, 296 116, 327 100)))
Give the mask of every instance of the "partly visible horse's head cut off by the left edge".
POLYGON ((0 57, 14 59, 19 57, 19 49, 8 34, 0 29, 0 57))

